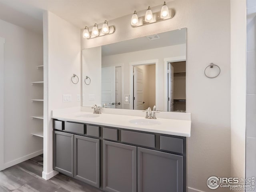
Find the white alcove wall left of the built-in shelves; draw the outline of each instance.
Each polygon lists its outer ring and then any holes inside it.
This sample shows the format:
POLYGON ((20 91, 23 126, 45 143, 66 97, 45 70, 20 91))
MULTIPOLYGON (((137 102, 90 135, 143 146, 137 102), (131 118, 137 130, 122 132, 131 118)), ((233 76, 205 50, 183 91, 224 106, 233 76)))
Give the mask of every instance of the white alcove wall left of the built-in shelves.
MULTIPOLYGON (((30 82, 42 80, 42 34, 0 20, 4 44, 4 166, 7 168, 42 154, 42 138, 31 133, 42 127, 42 121, 30 116, 41 107, 31 102, 42 94, 30 82)), ((2 142, 2 140, 1 140, 2 142)), ((0 154, 2 156, 3 154, 0 154)))

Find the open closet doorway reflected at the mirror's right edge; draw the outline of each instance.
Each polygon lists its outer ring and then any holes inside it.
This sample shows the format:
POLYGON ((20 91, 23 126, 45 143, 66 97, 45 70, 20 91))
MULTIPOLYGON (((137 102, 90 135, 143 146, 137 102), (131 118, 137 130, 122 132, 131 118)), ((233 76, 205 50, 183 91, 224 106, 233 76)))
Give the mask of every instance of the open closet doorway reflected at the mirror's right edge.
POLYGON ((168 63, 168 111, 186 112, 186 61, 168 63))

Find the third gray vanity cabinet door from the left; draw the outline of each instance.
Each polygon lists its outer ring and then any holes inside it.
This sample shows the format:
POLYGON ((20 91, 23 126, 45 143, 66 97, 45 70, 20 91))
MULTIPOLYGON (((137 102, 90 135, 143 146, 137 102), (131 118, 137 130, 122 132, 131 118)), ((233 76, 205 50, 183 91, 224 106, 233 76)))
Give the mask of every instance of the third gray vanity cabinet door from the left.
POLYGON ((103 141, 103 190, 137 192, 137 147, 103 141))

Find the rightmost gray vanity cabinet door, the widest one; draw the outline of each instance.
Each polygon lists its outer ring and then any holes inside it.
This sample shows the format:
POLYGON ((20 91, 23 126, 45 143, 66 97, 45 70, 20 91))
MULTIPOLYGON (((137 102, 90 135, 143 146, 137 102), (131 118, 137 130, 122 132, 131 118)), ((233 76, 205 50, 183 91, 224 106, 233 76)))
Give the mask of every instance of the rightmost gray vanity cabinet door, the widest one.
POLYGON ((138 147, 138 192, 182 192, 183 157, 138 147))

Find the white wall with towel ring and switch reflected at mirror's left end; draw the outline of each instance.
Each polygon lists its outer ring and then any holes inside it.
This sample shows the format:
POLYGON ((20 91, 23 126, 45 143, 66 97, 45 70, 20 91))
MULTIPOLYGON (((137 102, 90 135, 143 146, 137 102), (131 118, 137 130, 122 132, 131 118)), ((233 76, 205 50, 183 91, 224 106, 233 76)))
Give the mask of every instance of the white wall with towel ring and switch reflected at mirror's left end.
POLYGON ((101 106, 101 47, 82 50, 82 106, 101 106), (88 76, 90 78, 84 79, 88 76), (91 81, 91 82, 90 82, 91 81), (95 100, 89 100, 89 95, 95 96, 95 100))

